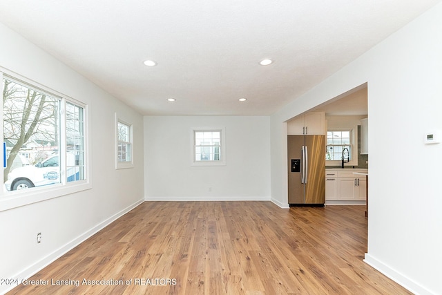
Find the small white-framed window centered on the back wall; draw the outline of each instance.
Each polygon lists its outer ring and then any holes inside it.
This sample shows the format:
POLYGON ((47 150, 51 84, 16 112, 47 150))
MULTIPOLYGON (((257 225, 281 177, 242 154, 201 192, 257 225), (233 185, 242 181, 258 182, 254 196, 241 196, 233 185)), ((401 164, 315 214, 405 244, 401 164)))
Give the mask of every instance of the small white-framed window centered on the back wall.
POLYGON ((224 129, 193 129, 193 165, 224 165, 224 144, 224 129))

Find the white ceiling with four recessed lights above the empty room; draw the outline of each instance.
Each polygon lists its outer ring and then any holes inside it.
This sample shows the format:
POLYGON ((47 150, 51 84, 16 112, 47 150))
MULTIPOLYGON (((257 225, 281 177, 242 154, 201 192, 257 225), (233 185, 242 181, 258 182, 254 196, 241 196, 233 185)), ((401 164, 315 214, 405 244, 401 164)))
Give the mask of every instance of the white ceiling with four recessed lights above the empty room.
POLYGON ((440 1, 0 0, 0 22, 144 115, 270 115, 440 1))

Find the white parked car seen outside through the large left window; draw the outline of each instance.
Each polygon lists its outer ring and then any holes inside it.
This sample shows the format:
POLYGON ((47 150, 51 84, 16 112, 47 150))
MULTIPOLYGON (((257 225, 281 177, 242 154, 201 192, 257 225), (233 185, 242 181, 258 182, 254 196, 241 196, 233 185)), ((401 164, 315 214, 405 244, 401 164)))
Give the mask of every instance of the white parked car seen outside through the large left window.
POLYGON ((8 191, 41 187, 59 183, 59 177, 59 156, 52 155, 43 162, 38 162, 35 166, 23 166, 12 170, 8 174, 5 187, 8 191))

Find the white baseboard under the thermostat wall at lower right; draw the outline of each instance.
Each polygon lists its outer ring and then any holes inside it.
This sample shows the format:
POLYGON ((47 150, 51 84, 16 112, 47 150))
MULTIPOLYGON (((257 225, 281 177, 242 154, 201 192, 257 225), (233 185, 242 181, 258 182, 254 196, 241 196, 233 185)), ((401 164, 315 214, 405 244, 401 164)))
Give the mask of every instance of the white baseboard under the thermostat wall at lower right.
POLYGON ((419 283, 416 283, 414 280, 408 278, 407 276, 404 276, 400 272, 397 272, 396 269, 393 269, 392 267, 386 265, 385 263, 374 258, 373 256, 370 256, 367 253, 365 253, 365 259, 363 261, 367 263, 367 265, 370 265, 374 269, 378 270, 378 272, 381 272, 388 278, 391 278, 396 283, 398 283, 405 289, 409 290, 413 294, 419 294, 419 295, 436 294, 435 292, 431 292, 429 289, 426 289, 422 285, 419 285, 419 283))

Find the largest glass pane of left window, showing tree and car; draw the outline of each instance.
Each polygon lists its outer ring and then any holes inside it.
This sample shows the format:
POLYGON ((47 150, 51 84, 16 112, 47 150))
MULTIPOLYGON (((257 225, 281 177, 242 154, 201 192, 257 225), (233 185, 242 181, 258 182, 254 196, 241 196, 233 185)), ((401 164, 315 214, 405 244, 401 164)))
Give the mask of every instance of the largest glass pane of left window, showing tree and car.
POLYGON ((8 190, 60 182, 59 99, 3 79, 3 142, 8 190))

